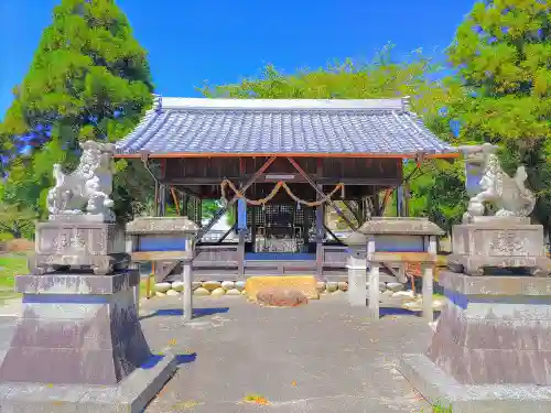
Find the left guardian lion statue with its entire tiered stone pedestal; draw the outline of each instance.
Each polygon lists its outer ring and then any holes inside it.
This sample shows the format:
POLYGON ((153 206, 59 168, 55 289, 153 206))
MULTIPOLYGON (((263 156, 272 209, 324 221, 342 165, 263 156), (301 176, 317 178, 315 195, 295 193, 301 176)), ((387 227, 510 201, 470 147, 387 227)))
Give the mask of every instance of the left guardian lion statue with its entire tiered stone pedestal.
POLYGON ((1 411, 141 412, 176 369, 140 326, 140 275, 110 209, 112 145, 82 148, 74 173, 54 166, 32 273, 15 278, 22 315, 0 355, 1 411))

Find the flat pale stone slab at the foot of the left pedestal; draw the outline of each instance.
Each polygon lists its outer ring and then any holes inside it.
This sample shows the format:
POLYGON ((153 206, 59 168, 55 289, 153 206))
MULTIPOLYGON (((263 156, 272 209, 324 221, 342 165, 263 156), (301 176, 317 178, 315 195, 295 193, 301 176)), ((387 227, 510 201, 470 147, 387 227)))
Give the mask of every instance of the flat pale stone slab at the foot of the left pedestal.
POLYGON ((0 413, 139 413, 177 369, 173 355, 151 356, 118 385, 0 385, 0 413))

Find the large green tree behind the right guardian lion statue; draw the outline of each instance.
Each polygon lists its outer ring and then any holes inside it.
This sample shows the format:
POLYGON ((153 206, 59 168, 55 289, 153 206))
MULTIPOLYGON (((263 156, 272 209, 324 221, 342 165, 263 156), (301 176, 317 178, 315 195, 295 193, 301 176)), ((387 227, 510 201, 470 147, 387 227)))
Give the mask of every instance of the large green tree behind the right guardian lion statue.
POLYGON ((478 1, 449 50, 465 89, 452 115, 460 140, 503 148, 539 195, 534 218, 551 228, 551 13, 549 1, 478 1))

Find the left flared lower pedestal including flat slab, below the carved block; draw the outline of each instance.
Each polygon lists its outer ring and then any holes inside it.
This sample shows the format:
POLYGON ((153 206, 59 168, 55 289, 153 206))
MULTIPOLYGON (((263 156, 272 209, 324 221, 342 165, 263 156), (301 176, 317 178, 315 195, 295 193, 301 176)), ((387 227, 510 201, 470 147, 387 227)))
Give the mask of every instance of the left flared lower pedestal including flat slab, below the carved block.
POLYGON ((2 411, 141 411, 176 363, 150 352, 132 291, 139 279, 137 270, 17 276, 23 308, 0 363, 2 411))

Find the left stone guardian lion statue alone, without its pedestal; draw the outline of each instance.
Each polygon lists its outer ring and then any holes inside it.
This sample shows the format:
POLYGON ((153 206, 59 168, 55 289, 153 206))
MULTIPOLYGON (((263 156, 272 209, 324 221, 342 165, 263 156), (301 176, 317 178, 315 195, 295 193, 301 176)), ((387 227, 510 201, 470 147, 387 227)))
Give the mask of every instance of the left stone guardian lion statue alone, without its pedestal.
POLYGON ((55 186, 47 193, 50 219, 63 215, 86 215, 114 221, 111 210, 112 174, 115 145, 87 141, 80 143, 83 154, 76 170, 69 174, 54 165, 55 186))

